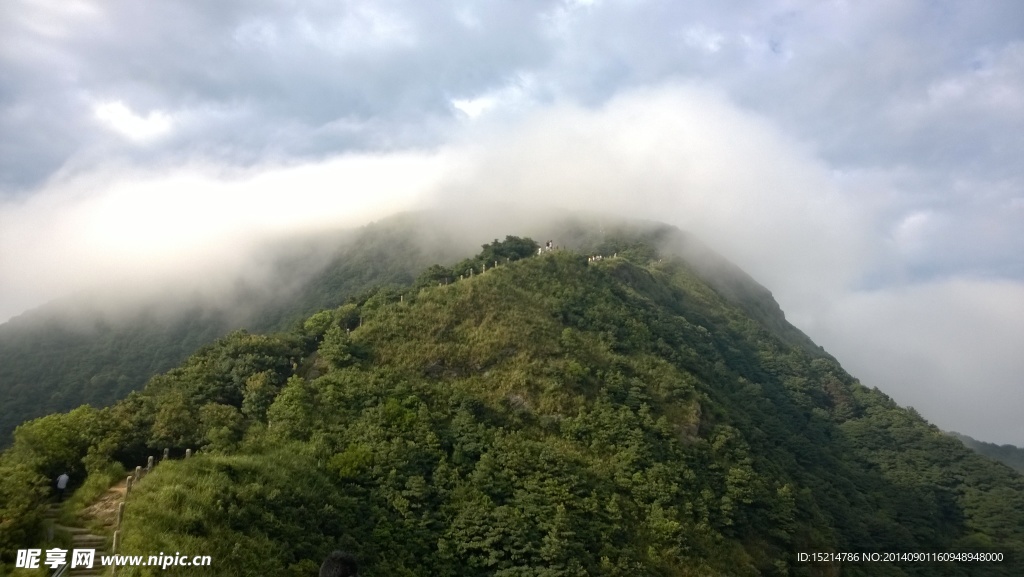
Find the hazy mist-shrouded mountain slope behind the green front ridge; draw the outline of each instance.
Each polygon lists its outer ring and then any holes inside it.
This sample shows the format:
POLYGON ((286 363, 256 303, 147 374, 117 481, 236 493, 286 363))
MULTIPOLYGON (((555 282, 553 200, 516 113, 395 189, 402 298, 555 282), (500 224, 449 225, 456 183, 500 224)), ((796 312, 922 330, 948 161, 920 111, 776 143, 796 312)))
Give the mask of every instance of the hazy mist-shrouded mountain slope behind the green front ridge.
MULTIPOLYGON (((454 263, 510 221, 581 251, 612 238, 650 243, 684 257, 706 282, 779 337, 816 348, 785 322, 771 293, 696 239, 654 222, 554 213, 526 218, 479 208, 472 226, 437 211, 399 214, 356 231, 289 240, 262 250, 265 270, 225 294, 174 289, 131 298, 111 290, 70 297, 0 324, 0 448, 22 422, 83 404, 108 406, 230 330, 289 329, 317 311, 381 285, 404 286, 431 263, 454 263), (284 245, 284 246, 281 246, 284 245), (126 302, 127 301, 127 302, 126 302)), ((257 267, 254 265, 254 267, 257 267)), ((187 286, 187 285, 185 285, 187 286)))

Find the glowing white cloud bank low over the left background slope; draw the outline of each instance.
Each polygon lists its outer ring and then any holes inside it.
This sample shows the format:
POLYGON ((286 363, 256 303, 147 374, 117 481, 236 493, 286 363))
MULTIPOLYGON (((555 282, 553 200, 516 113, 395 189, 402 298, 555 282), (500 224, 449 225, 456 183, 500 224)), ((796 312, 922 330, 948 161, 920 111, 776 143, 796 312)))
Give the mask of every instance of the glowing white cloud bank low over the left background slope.
POLYGON ((0 318, 96 287, 229 286, 280 237, 354 226, 413 207, 436 154, 341 155, 238 170, 103 166, 0 204, 0 318))

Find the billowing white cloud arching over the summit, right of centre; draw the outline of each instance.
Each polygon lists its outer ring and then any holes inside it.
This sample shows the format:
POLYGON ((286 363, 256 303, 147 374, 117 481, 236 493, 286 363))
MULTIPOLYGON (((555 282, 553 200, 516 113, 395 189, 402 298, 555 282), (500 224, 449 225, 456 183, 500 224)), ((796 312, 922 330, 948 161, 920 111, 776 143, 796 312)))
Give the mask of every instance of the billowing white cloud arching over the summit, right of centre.
POLYGON ((469 161, 446 195, 669 220, 790 303, 850 283, 870 244, 864 215, 810 151, 708 88, 542 107, 464 139, 469 161))

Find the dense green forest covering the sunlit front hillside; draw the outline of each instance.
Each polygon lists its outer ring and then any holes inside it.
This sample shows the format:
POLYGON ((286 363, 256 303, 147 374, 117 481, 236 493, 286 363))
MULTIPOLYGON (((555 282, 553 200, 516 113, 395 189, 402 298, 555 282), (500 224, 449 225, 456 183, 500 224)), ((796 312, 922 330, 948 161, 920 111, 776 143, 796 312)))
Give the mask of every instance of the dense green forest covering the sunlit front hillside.
POLYGON ((312 575, 339 547, 371 577, 1021 574, 1024 477, 860 384, 738 270, 660 250, 666 234, 540 255, 496 240, 23 424, 0 457, 2 561, 38 546, 53 476, 89 485, 169 448, 123 527, 125 552, 215 563, 169 575, 312 575))

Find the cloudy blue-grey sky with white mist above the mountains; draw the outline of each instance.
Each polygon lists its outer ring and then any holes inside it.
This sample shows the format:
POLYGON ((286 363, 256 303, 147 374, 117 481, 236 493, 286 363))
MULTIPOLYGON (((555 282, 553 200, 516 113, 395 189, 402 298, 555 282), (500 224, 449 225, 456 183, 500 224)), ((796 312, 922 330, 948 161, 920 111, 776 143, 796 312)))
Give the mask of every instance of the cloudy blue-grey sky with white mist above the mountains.
POLYGON ((0 322, 410 208, 606 211, 1024 446, 1017 0, 7 0, 0 38, 0 322))

